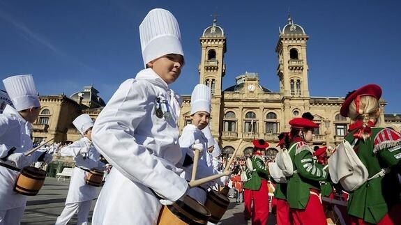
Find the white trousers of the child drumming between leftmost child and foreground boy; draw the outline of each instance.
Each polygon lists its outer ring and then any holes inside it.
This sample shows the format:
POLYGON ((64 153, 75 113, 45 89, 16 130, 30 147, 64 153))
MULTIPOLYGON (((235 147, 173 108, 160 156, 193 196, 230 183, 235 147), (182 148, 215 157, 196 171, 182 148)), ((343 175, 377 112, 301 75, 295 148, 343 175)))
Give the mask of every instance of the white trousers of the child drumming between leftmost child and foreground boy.
POLYGON ((61 215, 57 217, 56 224, 54 225, 66 225, 70 221, 70 219, 73 218, 75 212, 77 211, 77 225, 88 224, 91 203, 92 200, 66 204, 66 207, 63 209, 63 212, 61 212, 61 215))

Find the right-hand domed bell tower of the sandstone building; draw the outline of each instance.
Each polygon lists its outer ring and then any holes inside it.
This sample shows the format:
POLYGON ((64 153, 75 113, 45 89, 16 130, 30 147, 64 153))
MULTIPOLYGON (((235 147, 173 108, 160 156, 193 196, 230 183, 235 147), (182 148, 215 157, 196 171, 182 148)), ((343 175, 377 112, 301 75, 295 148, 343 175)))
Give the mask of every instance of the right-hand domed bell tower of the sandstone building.
POLYGON ((302 26, 294 24, 291 17, 288 17, 288 24, 279 31, 275 52, 278 54, 280 93, 284 98, 309 98, 306 59, 306 42, 309 37, 302 26))

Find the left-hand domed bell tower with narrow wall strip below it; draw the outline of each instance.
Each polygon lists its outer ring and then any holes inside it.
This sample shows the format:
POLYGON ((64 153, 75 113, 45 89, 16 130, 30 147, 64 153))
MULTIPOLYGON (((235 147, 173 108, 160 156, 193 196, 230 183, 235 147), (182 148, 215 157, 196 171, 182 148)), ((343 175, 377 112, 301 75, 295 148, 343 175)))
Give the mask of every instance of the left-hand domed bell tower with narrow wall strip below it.
MULTIPOLYGON (((225 75, 224 54, 226 52, 226 38, 223 29, 217 25, 217 19, 202 33, 199 38, 201 44, 201 61, 199 63, 199 84, 206 84, 211 88, 211 132, 217 135, 220 132, 222 105, 222 77, 225 75)), ((219 135, 220 136, 220 135, 219 135)))

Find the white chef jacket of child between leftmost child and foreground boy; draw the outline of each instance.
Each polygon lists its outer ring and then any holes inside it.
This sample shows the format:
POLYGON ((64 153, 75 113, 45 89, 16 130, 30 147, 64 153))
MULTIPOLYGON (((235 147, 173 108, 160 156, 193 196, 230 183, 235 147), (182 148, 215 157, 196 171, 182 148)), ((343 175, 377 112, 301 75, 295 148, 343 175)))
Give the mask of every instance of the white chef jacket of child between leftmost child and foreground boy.
POLYGON ((103 163, 99 161, 100 154, 95 146, 91 145, 91 140, 84 137, 69 146, 61 148, 61 156, 73 156, 75 161, 75 168, 70 180, 66 204, 96 199, 97 187, 85 183, 86 176, 89 172, 84 171, 84 169, 91 170, 95 168, 103 170, 100 168, 103 163), (84 155, 80 154, 80 150, 86 147, 89 147, 89 152, 84 155))

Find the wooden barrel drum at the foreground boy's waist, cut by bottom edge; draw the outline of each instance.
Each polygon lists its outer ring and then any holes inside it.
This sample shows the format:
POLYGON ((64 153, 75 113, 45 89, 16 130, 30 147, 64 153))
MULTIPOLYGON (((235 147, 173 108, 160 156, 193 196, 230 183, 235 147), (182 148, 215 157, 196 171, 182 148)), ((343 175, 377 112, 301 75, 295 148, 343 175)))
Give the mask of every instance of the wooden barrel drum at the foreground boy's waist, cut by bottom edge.
POLYGON ((158 218, 158 225, 207 224, 211 212, 201 203, 185 196, 184 201, 172 205, 163 205, 158 218))

